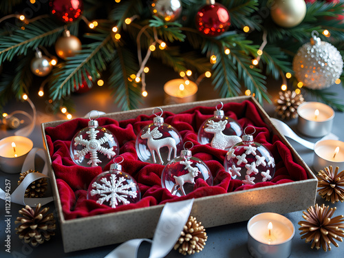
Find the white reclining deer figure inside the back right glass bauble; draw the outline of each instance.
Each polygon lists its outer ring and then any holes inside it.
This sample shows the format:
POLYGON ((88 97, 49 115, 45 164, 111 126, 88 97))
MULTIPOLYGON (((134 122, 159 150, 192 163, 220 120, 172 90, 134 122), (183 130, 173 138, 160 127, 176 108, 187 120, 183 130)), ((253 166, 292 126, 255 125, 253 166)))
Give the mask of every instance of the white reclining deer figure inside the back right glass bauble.
POLYGON ((213 140, 211 140, 211 147, 215 149, 228 149, 234 144, 242 141, 239 136, 226 136, 226 134, 222 133, 222 131, 226 129, 227 123, 228 120, 219 122, 210 120, 208 124, 206 124, 204 131, 206 131, 206 133, 214 134, 213 140))

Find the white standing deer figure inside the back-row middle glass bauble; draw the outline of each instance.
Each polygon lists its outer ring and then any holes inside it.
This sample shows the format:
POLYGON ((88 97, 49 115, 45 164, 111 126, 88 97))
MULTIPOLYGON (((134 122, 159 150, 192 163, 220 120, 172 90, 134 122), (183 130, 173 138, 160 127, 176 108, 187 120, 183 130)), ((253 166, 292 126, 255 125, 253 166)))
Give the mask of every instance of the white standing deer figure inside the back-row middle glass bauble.
POLYGON ((160 131, 158 131, 158 127, 155 127, 153 130, 148 128, 146 133, 142 134, 142 136, 141 136, 142 139, 147 139, 147 146, 149 148, 149 151, 151 151, 151 155, 153 157, 153 162, 156 163, 155 153, 154 153, 154 151, 155 151, 158 154, 160 164, 164 164, 164 161, 161 158, 160 149, 162 147, 168 147, 169 148, 169 155, 168 155, 167 160, 170 161, 172 150, 174 151, 174 158, 177 155, 177 146, 176 146, 175 139, 173 139, 172 137, 166 137, 166 138, 159 139, 161 137, 162 137, 162 133, 160 133, 160 131))

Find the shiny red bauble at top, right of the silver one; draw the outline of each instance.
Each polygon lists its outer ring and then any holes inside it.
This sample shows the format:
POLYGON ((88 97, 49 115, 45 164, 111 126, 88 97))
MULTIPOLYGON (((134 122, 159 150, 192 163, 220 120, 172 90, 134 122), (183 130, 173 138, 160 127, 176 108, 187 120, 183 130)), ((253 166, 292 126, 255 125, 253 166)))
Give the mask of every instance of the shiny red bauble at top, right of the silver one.
POLYGON ((218 36, 229 26, 228 10, 220 3, 203 6, 196 14, 196 28, 204 35, 218 36))

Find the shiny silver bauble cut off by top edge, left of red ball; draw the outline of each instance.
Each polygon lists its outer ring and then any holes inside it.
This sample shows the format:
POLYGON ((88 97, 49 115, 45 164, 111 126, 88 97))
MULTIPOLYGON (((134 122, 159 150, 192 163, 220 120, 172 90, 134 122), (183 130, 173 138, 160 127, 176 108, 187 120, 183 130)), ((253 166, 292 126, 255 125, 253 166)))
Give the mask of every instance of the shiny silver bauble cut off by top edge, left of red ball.
POLYGON ((151 3, 151 12, 165 21, 175 21, 182 14, 182 2, 180 0, 154 0, 151 3))

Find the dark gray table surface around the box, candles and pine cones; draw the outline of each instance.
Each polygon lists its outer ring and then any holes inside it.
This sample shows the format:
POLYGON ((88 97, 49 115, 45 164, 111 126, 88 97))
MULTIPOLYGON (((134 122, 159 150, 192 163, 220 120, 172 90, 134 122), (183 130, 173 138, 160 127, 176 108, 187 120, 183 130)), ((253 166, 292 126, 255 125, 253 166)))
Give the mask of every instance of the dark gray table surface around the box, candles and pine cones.
MULTIPOLYGON (((164 69, 164 68, 160 68, 164 69)), ((165 74, 169 74, 164 79, 156 78, 155 76, 147 76, 147 89, 149 92, 149 97, 145 101, 144 105, 140 107, 156 107, 164 105, 164 92, 162 89, 162 85, 167 80, 172 78, 178 78, 173 72, 166 70, 165 74)), ((272 81, 268 85, 269 93, 272 96, 272 100, 277 98, 278 91, 279 91, 279 83, 272 81)), ((36 92, 38 92, 38 88, 36 87, 36 92)), ((344 98, 344 89, 341 85, 334 85, 329 89, 332 92, 338 92, 338 96, 344 98)), ((43 147, 43 141, 41 136, 41 122, 47 122, 51 120, 61 120, 65 119, 65 116, 62 114, 50 114, 47 112, 46 105, 43 101, 39 100, 38 97, 36 98, 36 93, 32 92, 31 98, 36 104, 37 111, 38 111, 38 119, 36 122, 36 127, 33 133, 29 136, 34 142, 34 147, 43 147)), ((85 116, 88 111, 92 109, 97 109, 100 111, 105 112, 114 112, 118 111, 118 107, 112 103, 111 92, 109 89, 105 87, 94 87, 91 91, 82 94, 82 95, 74 95, 72 96, 74 103, 76 103, 76 112, 74 113, 74 117, 85 116)), ((213 99, 218 98, 217 94, 213 92, 213 87, 209 86, 209 82, 204 81, 200 84, 199 92, 197 94, 197 100, 206 100, 206 99, 213 99)), ((313 100, 311 96, 305 96, 307 101, 313 100)), ((10 103, 6 106, 5 111, 10 113, 11 111, 17 109, 25 109, 30 111, 30 107, 27 103, 10 103)), ((268 103, 264 103, 264 109, 267 113, 271 116, 275 116, 275 107, 268 103)), ((344 114, 341 112, 336 111, 336 115, 334 118, 334 127, 332 129, 332 133, 336 134, 340 140, 344 141, 344 132, 343 132, 343 121, 344 121, 344 114)), ((288 122, 288 125, 296 131, 296 123, 297 120, 292 120, 288 122)), ((4 138, 6 136, 13 135, 14 131, 8 131, 4 127, 0 127, 0 138, 4 138)), ((299 134, 299 133, 298 133, 299 134)), ((301 135, 300 135, 301 136, 301 135)), ((316 142, 317 138, 306 138, 301 136, 306 140, 310 140, 312 142, 316 142)), ((305 149, 305 147, 301 146, 299 143, 290 140, 290 143, 296 149, 296 151, 301 155, 301 158, 305 161, 308 166, 312 169, 312 160, 313 160, 313 151, 309 149, 305 149)), ((18 174, 7 174, 0 171, 0 186, 2 189, 5 187, 5 179, 11 181, 12 191, 17 187, 17 180, 19 176, 18 174)), ((302 198, 302 196, 300 196, 302 198)), ((341 202, 337 204, 331 204, 329 202, 325 202, 325 200, 321 199, 319 195, 316 197, 316 203, 329 205, 330 207, 337 207, 337 211, 334 215, 344 215, 344 204, 341 202)), ((48 204, 50 206, 50 211, 55 212, 54 204, 48 204)), ((63 252, 63 244, 61 239, 61 233, 59 228, 56 230, 56 235, 52 237, 50 241, 45 242, 41 246, 31 247, 28 244, 24 244, 19 237, 14 232, 14 228, 16 225, 14 224, 14 220, 17 217, 19 209, 23 206, 19 204, 12 204, 11 205, 11 253, 5 252, 5 213, 4 213, 4 202, 0 200, 0 257, 105 257, 111 250, 116 248, 118 244, 111 245, 111 246, 103 246, 99 248, 92 248, 89 250, 81 250, 78 252, 71 252, 65 253, 63 252)), ((302 218, 302 211, 296 211, 293 213, 284 214, 288 219, 292 221, 294 227, 296 228, 296 233, 294 238, 292 239, 292 254, 290 257, 343 257, 344 253, 344 243, 339 242, 339 247, 336 248, 332 245, 332 250, 329 252, 324 252, 323 250, 315 250, 310 248, 310 244, 306 244, 304 240, 300 238, 300 231, 299 225, 297 224, 302 218)), ((206 242, 206 246, 204 250, 200 253, 196 253, 193 257, 250 257, 247 249, 247 237, 248 233, 246 230, 247 222, 239 222, 235 224, 228 224, 225 226, 217 226, 214 228, 206 228, 206 233, 208 235, 208 241, 206 242)), ((92 234, 90 232, 90 234, 92 234)), ((140 247, 140 257, 148 257, 149 252, 149 244, 143 244, 140 247)), ((172 250, 167 257, 184 257, 180 255, 177 251, 172 250)))

